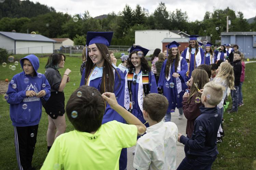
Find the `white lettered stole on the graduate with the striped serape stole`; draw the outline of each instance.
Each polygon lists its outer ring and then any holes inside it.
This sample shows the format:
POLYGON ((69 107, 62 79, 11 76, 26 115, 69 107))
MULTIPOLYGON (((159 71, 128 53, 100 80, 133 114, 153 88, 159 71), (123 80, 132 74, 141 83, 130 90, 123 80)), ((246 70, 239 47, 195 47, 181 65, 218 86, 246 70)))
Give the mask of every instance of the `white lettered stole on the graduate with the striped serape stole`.
MULTIPOLYGON (((129 95, 129 90, 128 90, 128 83, 127 83, 127 74, 125 76, 125 88, 124 88, 124 107, 126 108, 126 110, 129 110, 130 108, 130 95, 129 95)), ((143 82, 142 82, 142 74, 140 74, 139 77, 139 89, 138 89, 138 104, 139 104, 139 108, 141 111, 143 111, 143 98, 144 98, 144 90, 143 90, 143 82)), ((133 109, 133 104, 131 103, 132 107, 131 109, 133 109)))

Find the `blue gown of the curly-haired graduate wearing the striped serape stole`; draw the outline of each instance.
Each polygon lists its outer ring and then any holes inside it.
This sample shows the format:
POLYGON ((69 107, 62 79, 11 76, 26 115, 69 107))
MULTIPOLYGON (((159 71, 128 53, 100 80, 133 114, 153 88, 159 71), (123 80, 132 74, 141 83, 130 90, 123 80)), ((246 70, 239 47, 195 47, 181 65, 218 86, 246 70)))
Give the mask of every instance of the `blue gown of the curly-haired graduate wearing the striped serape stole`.
MULTIPOLYGON (((141 72, 141 70, 140 70, 141 72)), ((149 85, 149 91, 150 93, 157 93, 157 83, 156 79, 154 77, 153 73, 148 73, 148 85, 149 85), (151 84, 151 85, 150 85, 151 84)), ((133 103, 133 109, 132 109, 132 114, 136 116, 142 123, 145 123, 146 120, 143 118, 142 111, 139 108, 139 103, 138 103, 138 90, 139 90, 139 83, 132 83, 131 91, 132 91, 132 101, 133 103)), ((145 126, 149 127, 149 124, 146 123, 145 126)))

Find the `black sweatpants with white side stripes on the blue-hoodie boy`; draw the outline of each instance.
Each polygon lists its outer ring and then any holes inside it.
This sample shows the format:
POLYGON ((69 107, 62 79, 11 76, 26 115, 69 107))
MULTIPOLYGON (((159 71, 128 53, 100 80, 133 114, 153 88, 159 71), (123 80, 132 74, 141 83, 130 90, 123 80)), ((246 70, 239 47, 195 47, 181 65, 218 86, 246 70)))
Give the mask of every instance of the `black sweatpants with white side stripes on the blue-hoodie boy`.
POLYGON ((14 143, 18 167, 20 170, 32 168, 32 157, 37 142, 38 125, 14 126, 14 143))

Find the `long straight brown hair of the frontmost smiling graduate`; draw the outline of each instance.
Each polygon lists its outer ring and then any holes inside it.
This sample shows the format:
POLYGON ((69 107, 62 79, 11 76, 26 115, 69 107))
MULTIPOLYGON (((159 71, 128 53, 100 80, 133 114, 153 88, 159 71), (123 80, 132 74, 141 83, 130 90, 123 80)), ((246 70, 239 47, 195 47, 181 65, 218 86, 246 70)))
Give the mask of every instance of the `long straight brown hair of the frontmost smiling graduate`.
MULTIPOLYGON (((102 80, 101 80, 101 85, 100 85, 100 93, 103 94, 104 92, 113 92, 114 90, 114 72, 118 75, 119 80, 120 75, 118 71, 112 66, 111 58, 108 52, 108 48, 104 44, 97 44, 96 46, 100 53, 102 54, 102 57, 104 58, 104 64, 103 64, 103 74, 102 74, 102 80), (104 86, 105 85, 105 86, 104 86)), ((88 49, 87 49, 87 54, 89 54, 88 49)), ((91 60, 91 58, 88 56, 86 64, 85 64, 85 78, 86 80, 89 77, 89 74, 91 73, 92 69, 94 67, 94 64, 91 60)), ((86 84, 86 82, 85 82, 86 84)), ((118 88, 115 87, 115 88, 118 88)))

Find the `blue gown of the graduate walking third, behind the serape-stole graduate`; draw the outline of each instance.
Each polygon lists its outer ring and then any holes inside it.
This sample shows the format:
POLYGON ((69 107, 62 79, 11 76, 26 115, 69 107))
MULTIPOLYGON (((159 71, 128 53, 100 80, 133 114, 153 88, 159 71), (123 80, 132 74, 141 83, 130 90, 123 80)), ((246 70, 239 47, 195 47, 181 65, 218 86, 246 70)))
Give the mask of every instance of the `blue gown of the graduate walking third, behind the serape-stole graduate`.
POLYGON ((187 61, 182 58, 180 62, 180 72, 177 72, 180 74, 178 77, 181 80, 181 92, 178 93, 176 79, 172 76, 173 73, 175 73, 175 61, 173 62, 171 73, 170 73, 170 80, 167 81, 165 77, 165 67, 166 67, 167 60, 164 61, 160 75, 158 80, 158 87, 163 89, 163 95, 168 99, 169 101, 169 107, 167 109, 167 113, 174 112, 175 107, 180 108, 182 107, 182 100, 183 95, 185 93, 185 90, 188 88, 186 86, 186 73, 188 71, 188 64, 187 61), (174 87, 171 88, 169 85, 170 83, 174 83, 174 87))

